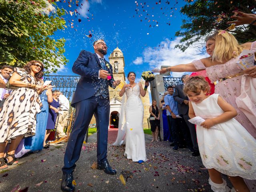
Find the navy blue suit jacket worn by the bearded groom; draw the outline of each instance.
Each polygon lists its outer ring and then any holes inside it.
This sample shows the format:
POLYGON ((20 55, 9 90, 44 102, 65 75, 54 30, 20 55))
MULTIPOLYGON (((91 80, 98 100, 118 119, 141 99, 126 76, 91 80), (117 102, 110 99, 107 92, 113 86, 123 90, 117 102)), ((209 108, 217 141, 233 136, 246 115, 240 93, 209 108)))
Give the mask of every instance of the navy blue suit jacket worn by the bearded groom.
MULTIPOLYGON (((106 84, 104 86, 109 96, 108 86, 114 88, 114 77, 111 64, 106 60, 105 63, 108 64, 109 68, 106 66, 106 70, 110 73, 112 77, 110 80, 106 81, 106 84)), ((104 83, 104 80, 102 78, 98 79, 99 70, 102 70, 102 66, 100 64, 100 60, 97 54, 82 50, 72 67, 72 71, 75 74, 81 76, 72 98, 72 107, 75 107, 75 103, 94 96, 94 94, 96 94, 96 92, 99 90, 102 83, 104 83)))

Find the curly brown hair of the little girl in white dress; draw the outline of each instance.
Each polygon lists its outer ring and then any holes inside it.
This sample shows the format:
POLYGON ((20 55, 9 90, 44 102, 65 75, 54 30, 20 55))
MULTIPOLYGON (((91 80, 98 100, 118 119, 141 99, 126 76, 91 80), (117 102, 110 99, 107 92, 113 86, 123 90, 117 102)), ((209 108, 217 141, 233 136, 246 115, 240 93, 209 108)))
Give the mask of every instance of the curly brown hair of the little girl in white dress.
POLYGON ((209 83, 203 76, 192 76, 188 78, 188 81, 186 81, 186 84, 183 88, 183 92, 185 94, 187 94, 188 91, 193 93, 200 93, 201 90, 206 91, 207 93, 210 91, 209 83))

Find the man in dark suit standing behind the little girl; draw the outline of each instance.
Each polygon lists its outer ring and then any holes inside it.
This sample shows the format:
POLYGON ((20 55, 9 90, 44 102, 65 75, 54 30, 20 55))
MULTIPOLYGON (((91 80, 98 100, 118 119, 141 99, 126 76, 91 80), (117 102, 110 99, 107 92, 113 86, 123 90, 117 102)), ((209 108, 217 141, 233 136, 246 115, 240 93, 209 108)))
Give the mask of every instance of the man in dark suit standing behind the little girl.
POLYGON ((183 92, 184 84, 186 83, 186 80, 188 79, 189 75, 183 75, 181 77, 181 80, 183 84, 176 85, 175 91, 173 94, 173 98, 176 102, 178 102, 178 112, 180 116, 185 120, 189 131, 191 135, 191 140, 193 143, 194 152, 192 153, 192 156, 199 156, 199 150, 198 150, 198 144, 196 140, 196 128, 194 124, 190 123, 188 120, 190 119, 188 116, 188 96, 186 96, 183 92))

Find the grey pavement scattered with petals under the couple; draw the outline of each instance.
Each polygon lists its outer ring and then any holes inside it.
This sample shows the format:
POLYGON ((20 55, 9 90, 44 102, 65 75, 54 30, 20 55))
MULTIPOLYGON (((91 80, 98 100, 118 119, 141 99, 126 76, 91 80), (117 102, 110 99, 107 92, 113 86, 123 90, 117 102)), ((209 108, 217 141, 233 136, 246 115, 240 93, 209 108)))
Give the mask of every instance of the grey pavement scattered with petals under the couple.
MULTIPOLYGON (((148 161, 143 164, 126 159, 125 146, 109 144, 108 161, 118 172, 113 176, 91 168, 96 162, 96 133, 90 136, 76 164, 76 192, 211 191, 200 157, 191 156, 186 148, 174 152, 167 141, 150 142, 148 134, 145 140, 148 161), (132 173, 132 178, 124 186, 119 176, 125 170, 132 173)), ((20 158, 18 166, 9 166, 0 173, 0 191, 10 192, 19 185, 21 189, 28 187, 28 192, 60 192, 65 148, 66 143, 51 145, 47 150, 20 158)))

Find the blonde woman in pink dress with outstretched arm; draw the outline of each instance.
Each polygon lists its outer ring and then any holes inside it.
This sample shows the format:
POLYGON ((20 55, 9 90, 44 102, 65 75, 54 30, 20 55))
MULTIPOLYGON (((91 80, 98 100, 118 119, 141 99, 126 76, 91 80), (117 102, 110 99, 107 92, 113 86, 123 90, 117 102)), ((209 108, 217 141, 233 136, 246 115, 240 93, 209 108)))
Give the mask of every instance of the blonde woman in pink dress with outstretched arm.
POLYGON ((160 73, 167 70, 172 72, 195 72, 206 70, 211 82, 218 83, 215 93, 220 94, 226 102, 234 106, 238 112, 236 120, 256 138, 256 98, 252 97, 256 84, 256 66, 242 70, 236 64, 242 50, 256 52, 256 42, 239 45, 236 38, 229 32, 218 30, 206 38, 206 51, 208 58, 194 60, 189 64, 180 64, 163 68, 160 73), (251 88, 251 92, 246 89, 251 88), (253 100, 252 100, 253 99, 253 100))

